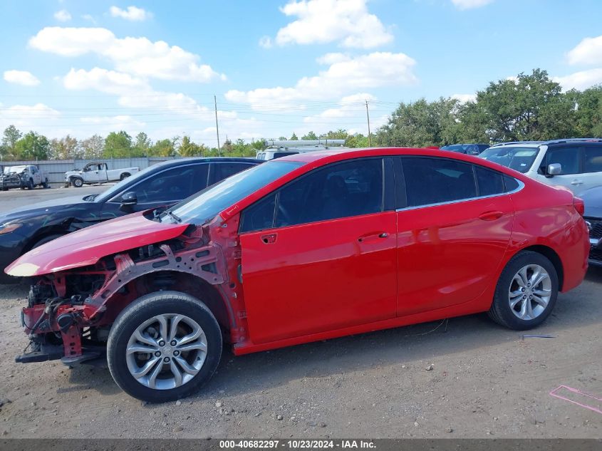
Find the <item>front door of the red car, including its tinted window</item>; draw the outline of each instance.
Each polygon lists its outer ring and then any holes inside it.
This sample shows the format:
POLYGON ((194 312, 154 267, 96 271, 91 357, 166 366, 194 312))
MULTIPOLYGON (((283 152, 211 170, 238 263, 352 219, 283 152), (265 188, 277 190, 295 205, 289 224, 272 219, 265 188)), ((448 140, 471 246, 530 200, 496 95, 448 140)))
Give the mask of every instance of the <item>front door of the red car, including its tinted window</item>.
POLYGON ((254 343, 395 316, 395 209, 383 159, 313 170, 242 214, 242 280, 254 343))

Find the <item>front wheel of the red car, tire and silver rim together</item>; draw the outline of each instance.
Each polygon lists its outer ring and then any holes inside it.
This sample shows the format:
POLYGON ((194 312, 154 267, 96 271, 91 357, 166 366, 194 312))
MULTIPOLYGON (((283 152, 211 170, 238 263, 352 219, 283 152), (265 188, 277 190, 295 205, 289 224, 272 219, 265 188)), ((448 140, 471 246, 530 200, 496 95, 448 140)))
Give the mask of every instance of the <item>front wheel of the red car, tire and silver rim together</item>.
POLYGON ((211 378, 222 332, 198 299, 178 291, 147 294, 115 320, 107 343, 115 383, 150 403, 185 398, 211 378))

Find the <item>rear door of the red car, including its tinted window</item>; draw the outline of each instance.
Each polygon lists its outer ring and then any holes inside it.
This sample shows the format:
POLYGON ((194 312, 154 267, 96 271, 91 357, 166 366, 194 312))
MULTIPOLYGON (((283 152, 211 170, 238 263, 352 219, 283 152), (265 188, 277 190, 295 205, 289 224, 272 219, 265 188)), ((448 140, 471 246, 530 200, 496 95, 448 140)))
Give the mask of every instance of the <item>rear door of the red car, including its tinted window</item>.
POLYGON ((497 282, 512 233, 504 175, 445 158, 402 160, 398 315, 472 301, 497 282))

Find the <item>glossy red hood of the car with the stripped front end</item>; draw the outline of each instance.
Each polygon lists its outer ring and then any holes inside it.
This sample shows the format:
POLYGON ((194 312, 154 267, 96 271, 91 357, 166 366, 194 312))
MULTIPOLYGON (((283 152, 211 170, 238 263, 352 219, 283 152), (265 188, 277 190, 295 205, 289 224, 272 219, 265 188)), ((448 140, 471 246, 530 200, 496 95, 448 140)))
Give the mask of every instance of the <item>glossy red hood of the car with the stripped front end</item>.
POLYGON ((155 222, 143 212, 86 227, 54 239, 16 259, 4 270, 30 277, 95 264, 103 256, 178 237, 189 224, 155 222))

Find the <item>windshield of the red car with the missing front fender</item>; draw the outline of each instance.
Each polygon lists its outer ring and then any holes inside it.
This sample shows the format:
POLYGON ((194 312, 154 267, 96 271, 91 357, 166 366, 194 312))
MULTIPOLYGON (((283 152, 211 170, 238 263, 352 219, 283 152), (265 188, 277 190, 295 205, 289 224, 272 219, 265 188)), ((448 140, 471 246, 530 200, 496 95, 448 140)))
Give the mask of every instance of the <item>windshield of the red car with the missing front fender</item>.
POLYGON ((251 167, 175 204, 162 215, 161 221, 172 222, 182 219, 184 222, 204 224, 227 207, 302 165, 303 163, 296 161, 272 160, 251 167), (173 215, 168 212, 172 212, 173 215))

